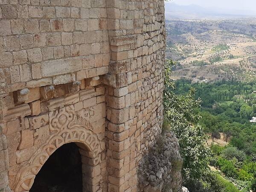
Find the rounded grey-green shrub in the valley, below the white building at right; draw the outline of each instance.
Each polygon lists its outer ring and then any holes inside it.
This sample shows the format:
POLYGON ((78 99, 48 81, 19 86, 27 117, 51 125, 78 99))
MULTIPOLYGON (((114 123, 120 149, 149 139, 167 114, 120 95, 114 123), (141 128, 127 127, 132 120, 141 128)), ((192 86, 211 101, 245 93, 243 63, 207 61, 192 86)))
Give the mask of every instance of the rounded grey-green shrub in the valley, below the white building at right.
POLYGON ((229 146, 221 151, 221 157, 227 160, 232 160, 235 157, 237 160, 243 161, 246 158, 246 154, 244 151, 240 151, 236 147, 229 146))

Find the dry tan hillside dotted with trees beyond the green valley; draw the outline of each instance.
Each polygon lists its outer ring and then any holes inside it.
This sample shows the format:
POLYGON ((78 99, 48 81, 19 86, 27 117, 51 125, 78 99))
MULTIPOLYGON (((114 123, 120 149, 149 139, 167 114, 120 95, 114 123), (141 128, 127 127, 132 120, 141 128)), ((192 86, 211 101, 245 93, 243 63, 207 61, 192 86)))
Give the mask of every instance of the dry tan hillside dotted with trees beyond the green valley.
MULTIPOLYGON (((182 28, 182 24, 184 23, 178 23, 176 26, 182 28)), ((198 25, 198 23, 195 24, 198 25)), ((203 24, 201 23, 201 25, 203 24)), ((204 76, 205 79, 216 80, 232 77, 245 79, 249 75, 253 75, 252 71, 255 70, 256 64, 256 42, 250 35, 239 34, 237 30, 233 29, 234 26, 225 26, 225 28, 228 27, 230 27, 230 31, 218 28, 215 28, 218 30, 208 30, 209 26, 206 26, 204 29, 206 32, 202 33, 185 33, 185 31, 184 34, 174 34, 169 31, 167 44, 172 44, 172 46, 167 48, 167 58, 176 58, 180 63, 180 66, 173 72, 173 76, 177 79, 185 77, 197 81, 201 76, 204 76), (212 48, 219 44, 227 44, 230 48, 212 51, 212 48), (230 58, 229 55, 233 55, 233 58, 230 58), (218 56, 222 61, 209 62, 210 59, 218 56), (192 64, 193 61, 205 61, 209 64, 197 67, 192 64)), ((201 28, 204 27, 201 26, 201 28)), ((182 33, 182 30, 180 29, 176 33, 182 33)), ((199 31, 203 31, 203 29, 199 31)))

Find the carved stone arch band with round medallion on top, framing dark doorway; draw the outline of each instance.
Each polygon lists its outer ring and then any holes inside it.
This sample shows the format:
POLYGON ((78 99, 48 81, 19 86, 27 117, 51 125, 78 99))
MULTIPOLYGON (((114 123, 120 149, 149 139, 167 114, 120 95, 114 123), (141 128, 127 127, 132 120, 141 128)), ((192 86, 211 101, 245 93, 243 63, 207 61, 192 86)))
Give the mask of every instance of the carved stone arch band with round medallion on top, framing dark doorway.
POLYGON ((15 192, 29 191, 35 176, 49 156, 66 143, 84 144, 90 151, 91 158, 94 158, 94 162, 99 163, 99 153, 103 151, 105 144, 101 143, 97 135, 89 130, 91 125, 87 119, 83 119, 78 114, 75 118, 73 107, 68 106, 54 111, 50 114, 49 121, 51 131, 55 133, 32 155, 29 164, 19 170, 12 187, 15 192))

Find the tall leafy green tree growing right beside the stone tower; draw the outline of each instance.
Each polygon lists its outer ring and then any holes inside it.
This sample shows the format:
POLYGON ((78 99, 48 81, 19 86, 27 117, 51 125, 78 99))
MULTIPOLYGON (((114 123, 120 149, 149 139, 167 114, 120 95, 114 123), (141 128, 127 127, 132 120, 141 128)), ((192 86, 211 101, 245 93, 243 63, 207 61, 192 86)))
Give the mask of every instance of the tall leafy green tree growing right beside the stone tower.
POLYGON ((208 136, 204 128, 198 124, 201 116, 197 113, 201 99, 194 99, 195 89, 191 88, 186 96, 174 93, 175 84, 170 81, 172 61, 165 66, 164 116, 169 123, 169 129, 174 131, 180 144, 180 154, 183 157, 184 183, 200 180, 209 169, 207 158, 210 150, 205 146, 208 136))

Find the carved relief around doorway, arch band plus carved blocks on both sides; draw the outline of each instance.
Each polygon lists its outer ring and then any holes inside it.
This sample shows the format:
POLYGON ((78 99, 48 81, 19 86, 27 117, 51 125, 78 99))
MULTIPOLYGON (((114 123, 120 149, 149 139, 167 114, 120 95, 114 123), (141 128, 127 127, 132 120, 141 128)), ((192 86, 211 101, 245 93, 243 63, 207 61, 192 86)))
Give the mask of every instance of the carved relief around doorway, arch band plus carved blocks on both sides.
POLYGON ((20 163, 9 169, 9 184, 15 192, 28 191, 49 156, 65 143, 80 143, 94 165, 101 161, 105 149, 105 103, 75 111, 74 105, 59 108, 49 114, 29 117, 33 146, 20 150, 20 163), (104 127, 100 131, 99 127, 104 127))

